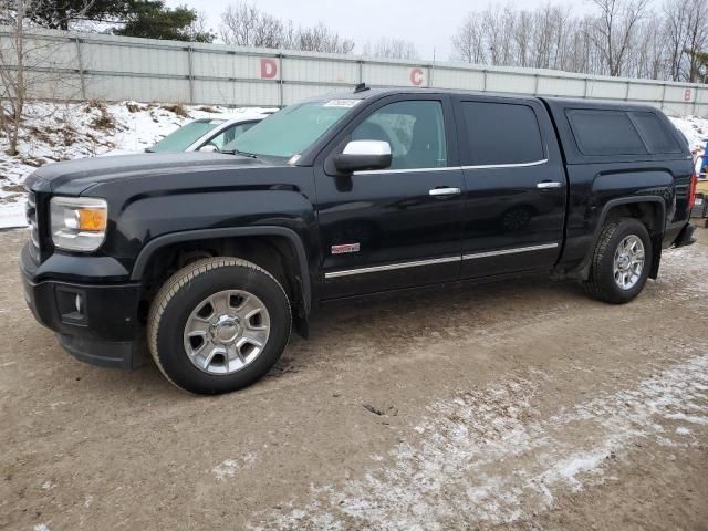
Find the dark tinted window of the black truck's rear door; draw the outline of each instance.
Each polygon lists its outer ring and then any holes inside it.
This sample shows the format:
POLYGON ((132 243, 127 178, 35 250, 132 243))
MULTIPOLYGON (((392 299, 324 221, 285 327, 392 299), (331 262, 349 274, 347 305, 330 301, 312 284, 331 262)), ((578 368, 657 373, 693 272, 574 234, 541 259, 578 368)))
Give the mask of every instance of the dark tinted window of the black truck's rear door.
POLYGON ((541 131, 529 105, 461 102, 467 146, 465 166, 537 163, 545 159, 541 131))

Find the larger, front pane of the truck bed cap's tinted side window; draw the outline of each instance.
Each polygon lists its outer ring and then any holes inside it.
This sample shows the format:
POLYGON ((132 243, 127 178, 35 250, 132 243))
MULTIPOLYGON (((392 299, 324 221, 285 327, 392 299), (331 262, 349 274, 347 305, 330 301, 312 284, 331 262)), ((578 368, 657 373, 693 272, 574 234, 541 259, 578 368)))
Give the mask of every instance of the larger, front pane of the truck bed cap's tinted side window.
POLYGON ((642 137, 624 111, 565 112, 583 155, 646 155, 642 137))

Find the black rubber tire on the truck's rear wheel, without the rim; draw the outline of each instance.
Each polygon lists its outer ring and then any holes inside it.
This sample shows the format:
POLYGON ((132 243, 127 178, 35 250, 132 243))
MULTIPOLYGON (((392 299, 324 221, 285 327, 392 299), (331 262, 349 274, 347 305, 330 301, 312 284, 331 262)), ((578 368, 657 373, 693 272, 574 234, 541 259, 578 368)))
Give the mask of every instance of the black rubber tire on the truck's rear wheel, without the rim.
POLYGON ((624 304, 636 298, 644 289, 652 269, 652 239, 644 223, 633 218, 607 221, 600 233, 593 253, 590 277, 584 282, 585 291, 593 299, 611 304, 624 304), (620 243, 628 236, 636 236, 644 244, 644 267, 639 279, 629 289, 622 289, 614 277, 614 258, 620 243))

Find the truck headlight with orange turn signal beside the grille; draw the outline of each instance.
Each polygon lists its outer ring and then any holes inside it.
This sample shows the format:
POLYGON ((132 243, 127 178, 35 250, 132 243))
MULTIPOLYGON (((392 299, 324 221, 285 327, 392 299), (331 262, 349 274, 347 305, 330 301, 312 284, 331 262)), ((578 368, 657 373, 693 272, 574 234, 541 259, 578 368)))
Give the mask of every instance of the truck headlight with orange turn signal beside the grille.
POLYGON ((53 197, 50 218, 58 249, 95 251, 106 237, 108 205, 94 197, 53 197))

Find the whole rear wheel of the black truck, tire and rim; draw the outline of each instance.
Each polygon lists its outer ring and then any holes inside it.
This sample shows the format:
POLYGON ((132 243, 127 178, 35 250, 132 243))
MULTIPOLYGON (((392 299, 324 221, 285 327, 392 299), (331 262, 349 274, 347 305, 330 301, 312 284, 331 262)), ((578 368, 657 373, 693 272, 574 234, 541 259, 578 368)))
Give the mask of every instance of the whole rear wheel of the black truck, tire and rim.
POLYGON ((629 302, 646 284, 652 257, 644 223, 633 218, 608 221, 597 240, 585 290, 603 302, 629 302))

